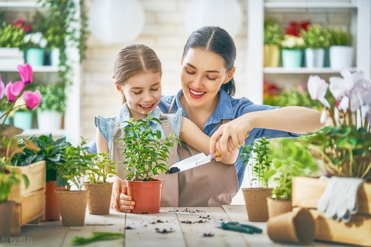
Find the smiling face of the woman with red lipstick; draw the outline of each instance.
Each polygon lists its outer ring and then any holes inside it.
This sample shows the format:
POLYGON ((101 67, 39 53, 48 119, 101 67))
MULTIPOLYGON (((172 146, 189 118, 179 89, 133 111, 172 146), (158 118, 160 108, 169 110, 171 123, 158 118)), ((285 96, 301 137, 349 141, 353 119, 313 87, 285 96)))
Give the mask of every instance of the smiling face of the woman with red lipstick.
POLYGON ((212 102, 221 85, 229 82, 234 74, 234 67, 227 71, 220 55, 198 48, 189 49, 181 65, 184 97, 194 107, 212 102))

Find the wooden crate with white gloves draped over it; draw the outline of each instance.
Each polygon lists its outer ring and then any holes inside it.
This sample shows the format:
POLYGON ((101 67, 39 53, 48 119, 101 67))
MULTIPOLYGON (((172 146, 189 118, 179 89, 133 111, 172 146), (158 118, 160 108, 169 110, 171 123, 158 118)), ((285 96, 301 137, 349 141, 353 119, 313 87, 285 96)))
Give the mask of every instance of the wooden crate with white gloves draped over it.
POLYGON ((312 177, 294 177, 292 206, 309 209, 315 220, 315 239, 336 243, 371 246, 371 183, 358 190, 358 213, 348 223, 325 218, 316 210, 319 198, 325 192, 326 180, 312 177))

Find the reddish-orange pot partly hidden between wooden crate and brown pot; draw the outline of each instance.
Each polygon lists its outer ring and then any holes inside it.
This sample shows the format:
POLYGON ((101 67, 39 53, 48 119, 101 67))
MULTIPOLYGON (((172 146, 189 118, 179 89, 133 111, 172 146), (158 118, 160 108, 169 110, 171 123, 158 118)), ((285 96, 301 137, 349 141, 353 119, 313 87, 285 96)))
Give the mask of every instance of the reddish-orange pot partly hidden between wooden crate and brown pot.
POLYGON ((60 220, 60 212, 55 190, 64 190, 64 186, 55 186, 55 180, 46 183, 45 188, 45 221, 60 220))

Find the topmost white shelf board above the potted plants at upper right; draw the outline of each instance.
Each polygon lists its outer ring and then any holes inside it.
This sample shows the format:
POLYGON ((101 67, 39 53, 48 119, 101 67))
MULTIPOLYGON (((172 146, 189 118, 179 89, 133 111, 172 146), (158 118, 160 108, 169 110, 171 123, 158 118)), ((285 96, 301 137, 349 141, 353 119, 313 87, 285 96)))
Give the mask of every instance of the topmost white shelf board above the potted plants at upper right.
POLYGON ((315 3, 292 3, 292 2, 272 2, 264 3, 264 7, 267 9, 298 9, 298 8, 308 8, 308 9, 357 9, 357 4, 352 3, 337 3, 329 2, 315 2, 315 3))

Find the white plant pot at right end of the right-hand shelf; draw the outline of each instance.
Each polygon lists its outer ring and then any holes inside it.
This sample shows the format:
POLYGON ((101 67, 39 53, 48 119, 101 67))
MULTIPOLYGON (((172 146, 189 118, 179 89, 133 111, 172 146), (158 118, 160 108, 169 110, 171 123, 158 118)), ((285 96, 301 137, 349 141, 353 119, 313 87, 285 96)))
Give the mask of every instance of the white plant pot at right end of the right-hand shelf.
POLYGON ((347 45, 332 45, 330 47, 330 66, 334 70, 353 65, 353 47, 347 45))

